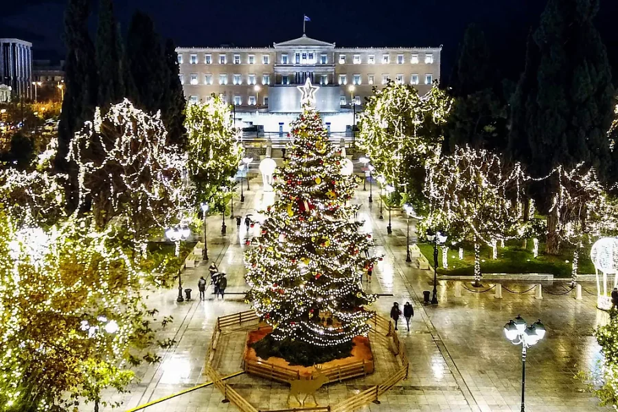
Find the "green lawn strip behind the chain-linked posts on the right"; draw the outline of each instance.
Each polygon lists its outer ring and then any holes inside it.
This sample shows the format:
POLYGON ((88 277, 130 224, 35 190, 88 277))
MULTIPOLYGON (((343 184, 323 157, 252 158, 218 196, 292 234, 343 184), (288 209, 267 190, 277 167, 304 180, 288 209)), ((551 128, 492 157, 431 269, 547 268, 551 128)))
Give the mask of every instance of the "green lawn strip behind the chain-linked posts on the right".
MULTIPOLYGON (((545 244, 538 245, 538 257, 532 257, 532 241, 523 249, 520 240, 505 242, 504 248, 498 248, 498 259, 492 260, 492 248, 481 246, 481 273, 551 273, 554 277, 571 277, 573 249, 562 248, 559 255, 545 254, 545 244), (484 260, 484 262, 483 262, 484 260)), ((433 245, 419 243, 418 247, 433 266, 433 245)), ((474 275, 474 249, 472 244, 464 244, 464 259, 459 260, 458 248, 448 249, 448 269, 442 268, 442 249, 438 249, 438 270, 441 275, 474 275)), ((595 267, 586 249, 580 252, 577 273, 595 273, 595 267)))

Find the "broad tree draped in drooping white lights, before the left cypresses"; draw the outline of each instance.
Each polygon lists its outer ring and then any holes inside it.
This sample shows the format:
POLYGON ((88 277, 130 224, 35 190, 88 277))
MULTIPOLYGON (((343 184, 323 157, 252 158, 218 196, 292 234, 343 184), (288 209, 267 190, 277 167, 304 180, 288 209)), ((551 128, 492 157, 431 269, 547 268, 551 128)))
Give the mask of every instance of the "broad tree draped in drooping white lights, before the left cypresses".
POLYGON ((126 99, 104 115, 97 110, 76 133, 69 159, 78 165, 80 205, 90 199, 99 227, 115 220, 144 242, 179 218, 187 160, 166 137, 159 113, 148 115, 126 99))

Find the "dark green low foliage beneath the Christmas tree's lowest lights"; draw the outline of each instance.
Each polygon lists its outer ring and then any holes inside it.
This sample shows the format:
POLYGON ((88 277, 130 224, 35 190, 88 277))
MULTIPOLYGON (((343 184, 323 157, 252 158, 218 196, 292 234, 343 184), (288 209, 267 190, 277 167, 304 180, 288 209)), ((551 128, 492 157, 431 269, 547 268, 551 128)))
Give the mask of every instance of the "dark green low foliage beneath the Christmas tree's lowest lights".
POLYGON ((287 338, 283 341, 275 341, 271 334, 267 334, 264 338, 251 344, 251 347, 255 350, 255 354, 262 359, 275 356, 276 358, 284 358, 292 366, 312 366, 352 356, 354 344, 350 341, 336 346, 322 347, 299 340, 292 341, 287 338))

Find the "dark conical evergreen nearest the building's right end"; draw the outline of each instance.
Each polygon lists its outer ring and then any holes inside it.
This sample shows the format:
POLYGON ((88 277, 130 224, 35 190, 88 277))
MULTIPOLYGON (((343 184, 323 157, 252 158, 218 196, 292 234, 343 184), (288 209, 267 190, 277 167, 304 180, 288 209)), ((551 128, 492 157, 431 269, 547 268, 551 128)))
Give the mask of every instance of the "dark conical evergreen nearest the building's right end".
POLYGON ((485 34, 469 25, 450 79, 455 104, 446 128, 447 151, 465 145, 498 150, 505 146, 506 105, 496 78, 485 34))

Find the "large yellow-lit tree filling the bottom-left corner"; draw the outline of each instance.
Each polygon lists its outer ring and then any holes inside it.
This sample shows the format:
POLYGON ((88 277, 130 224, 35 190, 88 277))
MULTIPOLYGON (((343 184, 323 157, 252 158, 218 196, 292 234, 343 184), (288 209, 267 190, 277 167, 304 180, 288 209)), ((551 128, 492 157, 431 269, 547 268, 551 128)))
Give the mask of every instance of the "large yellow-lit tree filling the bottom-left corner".
MULTIPOLYGON (((141 279, 111 234, 87 220, 44 230, 0 213, 0 404, 3 411, 72 411, 123 391, 154 334, 141 279)), ((152 314, 152 313, 151 313, 152 314)))

